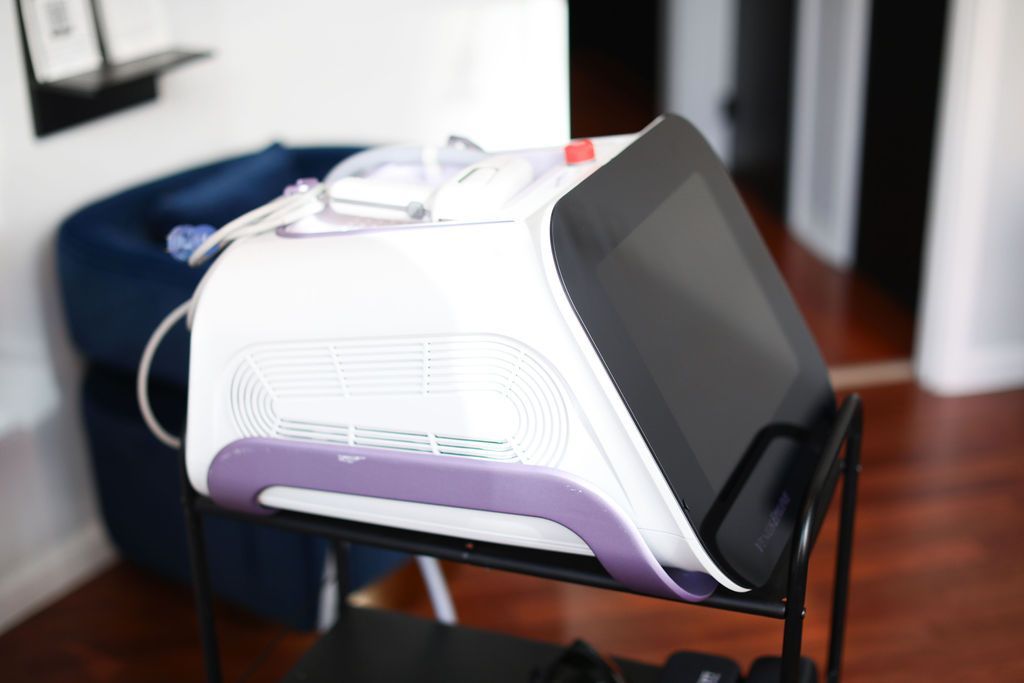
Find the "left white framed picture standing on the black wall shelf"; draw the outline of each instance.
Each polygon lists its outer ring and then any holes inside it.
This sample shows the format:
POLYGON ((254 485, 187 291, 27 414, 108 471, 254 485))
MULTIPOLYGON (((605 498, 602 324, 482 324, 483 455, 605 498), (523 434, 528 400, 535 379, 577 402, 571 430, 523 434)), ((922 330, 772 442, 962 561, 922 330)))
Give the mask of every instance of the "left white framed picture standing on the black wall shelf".
POLYGON ((103 63, 90 0, 20 0, 32 70, 40 83, 103 63))

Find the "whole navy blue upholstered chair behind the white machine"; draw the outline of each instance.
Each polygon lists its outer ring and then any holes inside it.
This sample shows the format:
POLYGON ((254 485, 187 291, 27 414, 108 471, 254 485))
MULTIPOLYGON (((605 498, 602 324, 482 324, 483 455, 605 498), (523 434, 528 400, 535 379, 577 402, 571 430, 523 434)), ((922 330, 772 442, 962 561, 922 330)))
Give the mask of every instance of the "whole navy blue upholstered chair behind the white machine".
MULTIPOLYGON (((299 177, 323 177, 354 147, 269 148, 148 182, 68 218, 57 262, 72 339, 87 360, 82 405, 103 519, 122 556, 187 581, 177 454, 146 430, 134 373, 158 323, 191 296, 203 274, 164 251, 180 223, 219 225, 281 194, 299 177)), ((179 326, 154 360, 151 395, 172 431, 184 423, 187 333, 179 326)), ((316 623, 327 544, 244 521, 206 525, 214 591, 295 628, 316 623)), ((358 587, 406 556, 353 548, 358 587)))

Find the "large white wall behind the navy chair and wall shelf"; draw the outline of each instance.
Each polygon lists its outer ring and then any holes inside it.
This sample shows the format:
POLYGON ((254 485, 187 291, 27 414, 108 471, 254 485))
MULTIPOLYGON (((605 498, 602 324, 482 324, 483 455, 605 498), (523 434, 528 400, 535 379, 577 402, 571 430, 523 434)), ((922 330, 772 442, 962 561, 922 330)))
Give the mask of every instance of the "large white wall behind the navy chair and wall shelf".
POLYGON ((76 208, 271 140, 495 148, 568 136, 564 0, 175 0, 216 54, 157 101, 37 139, 0 8, 0 630, 112 557, 78 417, 52 243, 76 208))

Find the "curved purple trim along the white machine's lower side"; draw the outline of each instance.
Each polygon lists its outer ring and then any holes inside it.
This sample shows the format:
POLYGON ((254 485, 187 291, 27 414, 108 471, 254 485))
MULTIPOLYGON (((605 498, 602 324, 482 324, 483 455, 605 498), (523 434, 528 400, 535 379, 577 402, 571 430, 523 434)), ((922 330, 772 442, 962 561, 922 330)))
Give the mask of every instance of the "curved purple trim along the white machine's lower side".
POLYGON ((243 438, 213 459, 208 483, 218 505, 252 514, 272 512, 257 500, 263 489, 292 486, 540 517, 583 539, 604 569, 633 591, 697 602, 716 587, 706 573, 663 567, 613 502, 547 467, 243 438))

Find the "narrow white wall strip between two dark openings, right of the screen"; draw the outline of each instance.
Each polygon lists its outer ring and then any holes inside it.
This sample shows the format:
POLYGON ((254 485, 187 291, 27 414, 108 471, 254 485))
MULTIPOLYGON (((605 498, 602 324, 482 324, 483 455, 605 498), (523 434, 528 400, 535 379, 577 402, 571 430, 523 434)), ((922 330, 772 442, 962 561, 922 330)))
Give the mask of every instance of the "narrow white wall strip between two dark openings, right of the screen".
POLYGON ((786 223, 831 265, 852 265, 860 198, 870 0, 800 0, 786 223))

